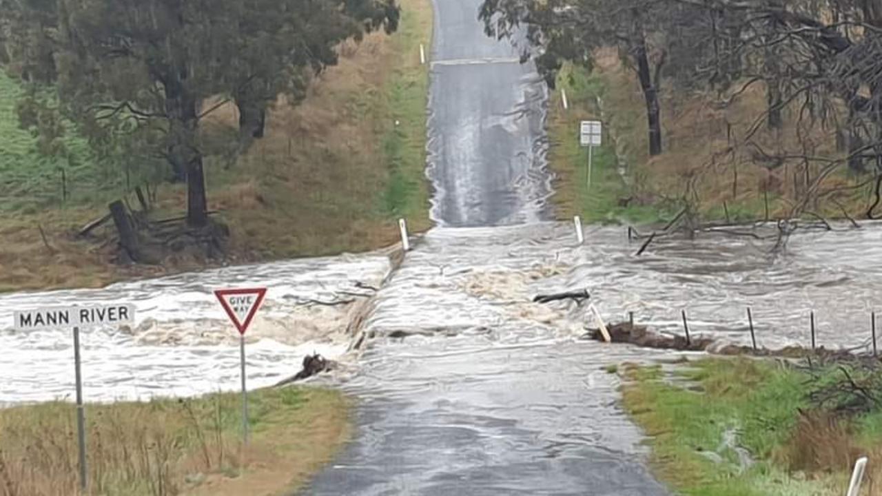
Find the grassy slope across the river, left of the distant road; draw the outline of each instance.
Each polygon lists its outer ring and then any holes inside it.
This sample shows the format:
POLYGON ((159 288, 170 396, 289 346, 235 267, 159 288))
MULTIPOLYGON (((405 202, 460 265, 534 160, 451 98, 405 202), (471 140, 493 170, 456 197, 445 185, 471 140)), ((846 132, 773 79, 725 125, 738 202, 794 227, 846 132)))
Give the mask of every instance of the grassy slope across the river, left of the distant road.
MULTIPOLYGON (((397 33, 342 45, 340 64, 318 77, 299 107, 280 102, 265 138, 235 163, 208 157, 209 208, 221 210, 232 232, 228 261, 375 249, 395 242, 399 217, 411 230, 430 226, 429 70, 418 47, 430 46, 432 11, 428 0, 400 5, 397 33)), ((20 94, 0 76, 0 291, 94 287, 202 267, 184 257, 164 267, 113 265, 110 227, 96 231, 97 239, 76 239, 78 228, 123 195, 123 171, 99 170, 85 143, 69 139, 76 163, 66 166, 71 196, 62 205, 59 163, 42 160, 35 139, 18 128, 20 94)), ((206 118, 206 143, 235 137, 236 119, 229 105, 206 118)), ((157 216, 181 214, 184 199, 182 186, 161 185, 157 216)), ((133 195, 130 200, 137 205, 133 195)))

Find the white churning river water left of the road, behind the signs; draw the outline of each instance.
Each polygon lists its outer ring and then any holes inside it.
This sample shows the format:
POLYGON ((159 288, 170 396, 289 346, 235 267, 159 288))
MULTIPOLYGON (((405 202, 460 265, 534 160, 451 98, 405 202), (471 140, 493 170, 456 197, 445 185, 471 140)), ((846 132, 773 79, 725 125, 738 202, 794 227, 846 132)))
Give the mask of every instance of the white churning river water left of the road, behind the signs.
POLYGON ((265 304, 248 332, 253 387, 271 385, 299 370, 303 355, 339 356, 350 305, 323 303, 355 298, 379 286, 390 269, 379 255, 304 259, 228 267, 105 289, 0 295, 0 404, 72 396, 71 329, 12 330, 12 312, 41 306, 131 303, 133 328, 92 328, 81 334, 87 401, 196 395, 235 389, 238 334, 213 289, 265 286, 265 304), (338 310, 339 309, 339 310, 338 310))

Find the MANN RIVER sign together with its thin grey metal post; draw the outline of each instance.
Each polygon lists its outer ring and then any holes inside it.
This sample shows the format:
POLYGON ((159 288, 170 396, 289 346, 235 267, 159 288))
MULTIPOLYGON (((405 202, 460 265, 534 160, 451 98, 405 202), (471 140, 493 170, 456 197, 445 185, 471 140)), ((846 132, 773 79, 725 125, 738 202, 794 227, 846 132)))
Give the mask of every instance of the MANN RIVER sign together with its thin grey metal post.
POLYGON ((118 326, 135 321, 135 307, 131 304, 107 304, 103 306, 69 306, 38 308, 13 312, 12 328, 17 331, 39 329, 73 328, 73 366, 77 387, 77 441, 79 448, 79 488, 86 492, 88 470, 86 468, 86 410, 83 406, 83 374, 79 357, 79 328, 118 326))

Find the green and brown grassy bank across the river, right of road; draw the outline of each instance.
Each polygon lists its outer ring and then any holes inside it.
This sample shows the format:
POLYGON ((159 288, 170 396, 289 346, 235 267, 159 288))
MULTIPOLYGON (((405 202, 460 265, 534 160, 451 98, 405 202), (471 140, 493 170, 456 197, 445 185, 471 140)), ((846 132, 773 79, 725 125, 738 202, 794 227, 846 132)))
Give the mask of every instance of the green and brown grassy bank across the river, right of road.
MULTIPOLYGON (((633 71, 625 69, 617 56, 601 52, 590 73, 566 66, 557 82, 571 103, 569 110, 563 109, 558 89, 552 95, 549 116, 553 144, 549 160, 557 174, 555 201, 561 218, 580 214, 589 222, 657 222, 676 214, 688 198, 702 219, 725 219, 728 209, 729 220, 738 222, 765 218, 766 196, 771 218, 789 214, 796 199, 804 196, 802 164, 787 162, 779 167, 762 163, 752 148, 744 145, 744 136, 765 109, 761 86, 751 86, 728 109, 715 105, 714 95, 678 94, 669 85, 662 87, 665 151, 650 157, 643 96, 633 71), (606 126, 605 144, 594 160, 590 192, 585 186, 587 154, 578 144, 579 120, 586 118, 602 119, 606 126), (626 181, 617 174, 617 159, 625 164, 626 181), (687 191, 687 184, 694 184, 694 189, 687 191)), ((796 108, 784 112, 781 131, 761 125, 754 140, 773 153, 798 154, 797 112, 796 108)), ((813 154, 841 155, 835 151, 832 130, 802 132, 811 138, 813 154)), ((811 180, 818 177, 819 167, 810 169, 811 180)), ((826 179, 821 191, 866 179, 843 167, 826 179)), ((811 204, 810 210, 841 217, 844 207, 858 218, 870 203, 871 184, 866 184, 826 194, 817 205, 811 204)))

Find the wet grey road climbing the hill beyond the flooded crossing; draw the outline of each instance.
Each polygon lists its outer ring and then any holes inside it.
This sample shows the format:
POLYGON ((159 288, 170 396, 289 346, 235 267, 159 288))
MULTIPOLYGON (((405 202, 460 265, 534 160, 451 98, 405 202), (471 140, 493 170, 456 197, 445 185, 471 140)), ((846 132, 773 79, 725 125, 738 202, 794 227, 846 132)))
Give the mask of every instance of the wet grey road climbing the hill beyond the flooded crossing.
POLYGON ((519 49, 483 33, 480 0, 436 0, 429 175, 444 226, 549 218, 546 86, 519 49))

